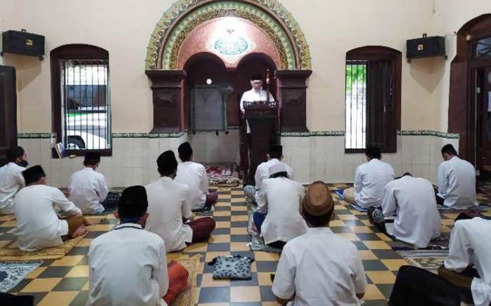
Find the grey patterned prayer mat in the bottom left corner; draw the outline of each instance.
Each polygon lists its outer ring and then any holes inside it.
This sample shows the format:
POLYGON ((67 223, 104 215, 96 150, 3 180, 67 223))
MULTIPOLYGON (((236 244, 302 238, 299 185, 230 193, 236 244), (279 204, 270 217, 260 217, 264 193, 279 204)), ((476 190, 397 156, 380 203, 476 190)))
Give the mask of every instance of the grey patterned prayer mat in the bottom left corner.
POLYGON ((43 262, 0 262, 0 292, 8 292, 43 262))

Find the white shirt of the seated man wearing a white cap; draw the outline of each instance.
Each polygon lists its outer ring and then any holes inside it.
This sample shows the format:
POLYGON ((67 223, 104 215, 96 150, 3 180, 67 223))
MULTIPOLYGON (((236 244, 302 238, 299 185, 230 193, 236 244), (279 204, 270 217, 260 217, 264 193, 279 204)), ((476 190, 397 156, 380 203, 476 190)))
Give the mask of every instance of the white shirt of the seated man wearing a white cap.
POLYGON ((257 199, 258 213, 267 213, 261 226, 264 243, 290 241, 307 232, 307 223, 300 215, 304 187, 288 178, 269 178, 262 182, 257 199))

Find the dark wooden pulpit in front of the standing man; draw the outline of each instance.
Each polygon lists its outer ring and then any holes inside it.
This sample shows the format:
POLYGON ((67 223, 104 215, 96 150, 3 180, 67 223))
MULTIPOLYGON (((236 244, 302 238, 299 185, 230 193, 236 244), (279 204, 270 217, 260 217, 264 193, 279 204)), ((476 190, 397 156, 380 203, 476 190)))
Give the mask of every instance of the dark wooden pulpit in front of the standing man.
POLYGON ((269 145, 276 142, 278 103, 276 101, 244 102, 245 119, 250 126, 250 163, 248 178, 254 181, 256 168, 266 161, 269 145))

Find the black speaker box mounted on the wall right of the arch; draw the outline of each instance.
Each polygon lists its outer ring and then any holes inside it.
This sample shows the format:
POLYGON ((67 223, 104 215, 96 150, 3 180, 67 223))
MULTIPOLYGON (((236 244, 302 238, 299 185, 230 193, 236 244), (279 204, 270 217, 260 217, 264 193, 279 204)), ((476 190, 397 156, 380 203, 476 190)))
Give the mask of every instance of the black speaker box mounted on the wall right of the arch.
POLYGON ((406 41, 407 58, 430 58, 445 55, 445 37, 431 36, 406 41))

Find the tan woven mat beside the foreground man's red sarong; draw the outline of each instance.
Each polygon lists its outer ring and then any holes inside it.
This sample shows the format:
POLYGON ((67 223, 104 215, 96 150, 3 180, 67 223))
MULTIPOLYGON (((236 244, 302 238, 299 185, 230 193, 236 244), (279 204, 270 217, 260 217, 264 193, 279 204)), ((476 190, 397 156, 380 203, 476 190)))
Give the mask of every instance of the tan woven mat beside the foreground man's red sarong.
POLYGON ((197 277, 200 271, 200 259, 201 255, 194 255, 190 257, 189 255, 183 255, 181 253, 168 253, 167 260, 175 260, 184 266, 189 272, 189 279, 187 288, 182 292, 177 298, 175 298, 172 306, 188 306, 195 305, 198 303, 199 288, 197 277))

